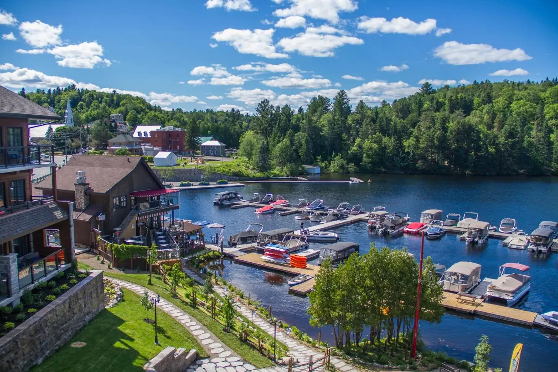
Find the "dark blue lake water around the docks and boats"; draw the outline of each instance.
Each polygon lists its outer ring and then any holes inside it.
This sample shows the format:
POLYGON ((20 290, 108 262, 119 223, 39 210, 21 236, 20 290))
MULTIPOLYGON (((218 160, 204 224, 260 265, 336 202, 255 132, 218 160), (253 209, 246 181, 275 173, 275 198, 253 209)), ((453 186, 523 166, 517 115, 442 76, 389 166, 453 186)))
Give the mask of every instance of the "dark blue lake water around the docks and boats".
MULTIPOLYGON (((348 179, 348 175, 339 176, 348 179)), ((481 221, 499 225, 503 218, 517 220, 519 229, 530 233, 542 220, 558 220, 557 177, 442 177, 442 176, 399 176, 357 175, 373 181, 349 185, 348 183, 253 183, 245 187, 218 190, 188 190, 181 192, 180 218, 218 222, 225 226, 225 240, 229 235, 245 230, 252 222, 261 223, 265 230, 299 227, 300 221, 293 216, 281 217, 254 214, 253 208, 230 210, 212 205, 214 194, 223 190, 242 192, 249 199, 253 192, 280 194, 285 199, 324 199, 329 207, 340 202, 362 204, 365 210, 374 206, 385 206, 390 212, 404 211, 412 221, 419 220, 426 209, 441 209, 444 215, 453 212, 463 215, 466 211, 478 212, 481 221)), ((305 225, 309 222, 305 221, 305 225)), ((212 231, 206 229, 206 236, 212 231)), ((420 238, 401 236, 395 239, 381 238, 368 234, 364 223, 342 226, 334 230, 341 240, 360 244, 360 252, 368 252, 370 244, 377 247, 407 249, 420 255, 420 238)), ((321 244, 310 244, 319 248, 321 244)), ((482 265, 482 277, 498 277, 499 265, 519 262, 531 267, 531 291, 516 307, 533 312, 558 310, 558 254, 545 256, 502 246, 501 240, 489 239, 482 248, 467 248, 458 235, 446 234, 439 240, 425 241, 425 256, 430 255, 435 263, 449 267, 458 261, 472 261, 482 265)), ((311 262, 314 263, 314 262, 311 262)), ((318 329, 309 325, 306 309, 307 298, 288 294, 287 276, 234 264, 227 260, 223 276, 252 298, 258 298, 264 306, 273 307, 273 315, 290 325, 296 325, 311 337, 318 336, 318 329)), ((474 318, 448 312, 439 324, 420 324, 420 334, 427 346, 446 352, 457 359, 472 360, 474 347, 481 335, 488 335, 493 345, 491 366, 508 369, 513 347, 521 342, 523 354, 520 370, 558 370, 558 335, 540 328, 528 328, 507 323, 474 318)), ((333 343, 330 327, 322 330, 323 339, 333 343)))

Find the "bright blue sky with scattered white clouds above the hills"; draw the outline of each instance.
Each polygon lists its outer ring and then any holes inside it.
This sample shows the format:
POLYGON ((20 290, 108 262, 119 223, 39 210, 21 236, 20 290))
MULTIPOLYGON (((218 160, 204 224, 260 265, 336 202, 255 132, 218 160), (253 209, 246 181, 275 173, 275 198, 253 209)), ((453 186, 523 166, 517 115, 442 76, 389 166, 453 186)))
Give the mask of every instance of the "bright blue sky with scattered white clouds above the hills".
POLYGON ((347 90, 558 75, 551 1, 185 0, 0 5, 0 85, 75 83, 170 109, 253 112, 347 90))

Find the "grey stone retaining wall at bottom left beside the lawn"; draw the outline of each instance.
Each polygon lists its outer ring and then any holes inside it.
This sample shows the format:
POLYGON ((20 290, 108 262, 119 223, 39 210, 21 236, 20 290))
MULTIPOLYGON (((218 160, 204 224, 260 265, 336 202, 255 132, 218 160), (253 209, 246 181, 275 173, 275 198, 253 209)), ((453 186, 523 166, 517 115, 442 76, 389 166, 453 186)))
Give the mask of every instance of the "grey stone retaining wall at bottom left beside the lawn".
POLYGON ((25 372, 64 346, 104 308, 103 271, 70 288, 0 338, 0 371, 25 372))

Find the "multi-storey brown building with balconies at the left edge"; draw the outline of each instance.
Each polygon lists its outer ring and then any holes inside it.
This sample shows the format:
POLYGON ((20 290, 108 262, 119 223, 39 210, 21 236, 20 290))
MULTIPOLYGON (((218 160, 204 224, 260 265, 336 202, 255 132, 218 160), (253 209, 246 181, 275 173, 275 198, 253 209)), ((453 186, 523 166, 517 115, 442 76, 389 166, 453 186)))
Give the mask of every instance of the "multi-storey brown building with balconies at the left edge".
POLYGON ((29 120, 61 118, 0 86, 0 306, 68 268, 73 255, 73 203, 56 192, 33 195, 36 168, 51 168, 49 187, 56 190, 56 163, 52 145, 30 146, 29 120))

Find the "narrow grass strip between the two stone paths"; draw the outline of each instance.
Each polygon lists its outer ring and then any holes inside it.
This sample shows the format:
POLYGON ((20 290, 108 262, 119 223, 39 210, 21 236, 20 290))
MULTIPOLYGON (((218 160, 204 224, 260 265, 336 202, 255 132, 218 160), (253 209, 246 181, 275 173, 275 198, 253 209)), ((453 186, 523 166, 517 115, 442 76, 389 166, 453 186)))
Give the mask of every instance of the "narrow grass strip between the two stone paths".
POLYGON ((208 330, 213 332, 215 336, 219 337, 221 341, 223 341, 228 347, 230 347, 230 349, 237 352, 240 357, 248 361, 248 363, 256 366, 257 368, 266 368, 273 365, 273 361, 267 359, 262 354, 259 354, 259 351, 253 349, 253 347, 249 346, 245 342, 240 341, 238 337, 234 336, 233 334, 225 332, 223 330, 223 326, 220 323, 214 321, 210 316, 206 315, 204 312, 197 308, 191 307, 187 303, 183 302, 181 299, 173 298, 169 291, 169 286, 162 282, 159 275, 153 274, 153 285, 148 286, 147 279, 149 277, 149 274, 121 274, 112 272, 105 272, 104 274, 108 277, 113 277, 116 279, 121 279, 123 281, 139 284, 140 286, 149 288, 151 289, 151 291, 165 297, 167 301, 172 302, 182 311, 185 311, 186 313, 189 313, 191 316, 196 318, 201 324, 207 327, 208 330))

